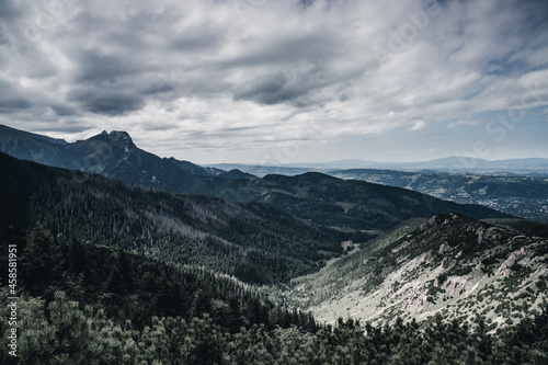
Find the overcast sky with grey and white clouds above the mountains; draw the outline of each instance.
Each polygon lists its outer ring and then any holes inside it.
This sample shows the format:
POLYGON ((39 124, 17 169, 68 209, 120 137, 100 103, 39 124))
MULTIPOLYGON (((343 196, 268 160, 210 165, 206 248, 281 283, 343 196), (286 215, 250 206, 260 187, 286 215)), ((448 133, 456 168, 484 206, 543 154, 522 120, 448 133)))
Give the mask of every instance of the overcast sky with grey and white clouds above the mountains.
POLYGON ((548 158, 548 2, 0 0, 0 124, 197 163, 548 158))

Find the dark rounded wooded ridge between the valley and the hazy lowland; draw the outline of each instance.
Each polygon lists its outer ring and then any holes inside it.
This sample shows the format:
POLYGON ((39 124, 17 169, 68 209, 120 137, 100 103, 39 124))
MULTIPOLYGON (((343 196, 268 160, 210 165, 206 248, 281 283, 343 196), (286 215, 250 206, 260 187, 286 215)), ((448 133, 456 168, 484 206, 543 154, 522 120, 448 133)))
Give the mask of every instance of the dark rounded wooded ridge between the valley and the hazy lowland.
POLYGON ((350 230, 386 230, 411 217, 448 210, 476 218, 509 217, 478 206, 445 202, 407 189, 341 180, 318 172, 266 175, 219 186, 218 196, 262 202, 313 224, 350 230))

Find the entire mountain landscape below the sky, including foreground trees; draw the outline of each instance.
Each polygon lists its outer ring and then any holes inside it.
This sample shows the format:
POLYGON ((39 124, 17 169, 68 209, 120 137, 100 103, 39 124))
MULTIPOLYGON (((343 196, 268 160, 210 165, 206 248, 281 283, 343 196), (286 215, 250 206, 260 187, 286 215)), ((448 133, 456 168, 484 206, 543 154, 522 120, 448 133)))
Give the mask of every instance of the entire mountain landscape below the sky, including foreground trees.
POLYGON ((548 226, 413 191, 546 199, 543 179, 259 178, 157 157, 124 132, 0 132, 26 363, 544 361, 548 226))

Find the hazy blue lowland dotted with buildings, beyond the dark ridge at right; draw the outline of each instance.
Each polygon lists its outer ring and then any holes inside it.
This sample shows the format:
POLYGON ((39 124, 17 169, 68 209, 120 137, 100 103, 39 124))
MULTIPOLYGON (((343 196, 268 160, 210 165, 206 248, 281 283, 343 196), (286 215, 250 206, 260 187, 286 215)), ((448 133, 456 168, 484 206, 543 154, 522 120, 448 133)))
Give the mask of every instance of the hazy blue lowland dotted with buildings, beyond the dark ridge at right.
POLYGON ((548 180, 544 178, 373 169, 327 173, 340 179, 411 189, 463 204, 481 204, 523 218, 548 220, 548 180))

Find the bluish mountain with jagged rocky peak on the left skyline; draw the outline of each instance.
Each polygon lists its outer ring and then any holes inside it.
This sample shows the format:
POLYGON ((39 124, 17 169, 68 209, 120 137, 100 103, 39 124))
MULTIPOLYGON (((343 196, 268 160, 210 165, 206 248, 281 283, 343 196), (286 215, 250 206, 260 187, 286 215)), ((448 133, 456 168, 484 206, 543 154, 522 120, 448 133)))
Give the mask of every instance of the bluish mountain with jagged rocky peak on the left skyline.
POLYGON ((206 169, 139 149, 125 132, 103 132, 72 144, 2 126, 0 150, 53 167, 100 173, 129 183, 170 191, 201 190, 206 169))

